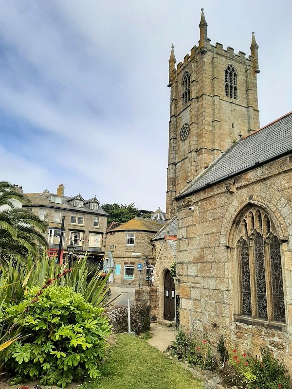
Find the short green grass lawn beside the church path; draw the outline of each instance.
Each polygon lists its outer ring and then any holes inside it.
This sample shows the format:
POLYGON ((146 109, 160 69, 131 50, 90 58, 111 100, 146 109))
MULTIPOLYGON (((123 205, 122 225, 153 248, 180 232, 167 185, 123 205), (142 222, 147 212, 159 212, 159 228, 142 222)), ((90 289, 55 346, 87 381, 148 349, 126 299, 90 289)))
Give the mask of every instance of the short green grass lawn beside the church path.
MULTIPOLYGON (((118 335, 103 376, 82 389, 202 389, 201 381, 145 340, 118 335)), ((80 389, 81 389, 80 388, 80 389)))

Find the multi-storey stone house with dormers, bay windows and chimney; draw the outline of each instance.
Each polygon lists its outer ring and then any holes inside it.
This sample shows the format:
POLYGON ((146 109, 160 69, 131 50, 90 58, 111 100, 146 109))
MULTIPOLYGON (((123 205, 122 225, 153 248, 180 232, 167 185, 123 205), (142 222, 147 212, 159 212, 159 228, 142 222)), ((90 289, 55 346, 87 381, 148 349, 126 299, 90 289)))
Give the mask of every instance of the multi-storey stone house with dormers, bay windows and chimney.
POLYGON ((91 199, 84 199, 80 194, 64 196, 63 184, 59 185, 56 194, 44 191, 26 195, 31 204, 23 207, 29 208, 48 223, 49 255, 57 255, 64 218, 63 260, 68 257, 67 246, 72 241, 74 256, 88 252, 89 260, 102 268, 108 214, 99 207, 95 196, 91 199))

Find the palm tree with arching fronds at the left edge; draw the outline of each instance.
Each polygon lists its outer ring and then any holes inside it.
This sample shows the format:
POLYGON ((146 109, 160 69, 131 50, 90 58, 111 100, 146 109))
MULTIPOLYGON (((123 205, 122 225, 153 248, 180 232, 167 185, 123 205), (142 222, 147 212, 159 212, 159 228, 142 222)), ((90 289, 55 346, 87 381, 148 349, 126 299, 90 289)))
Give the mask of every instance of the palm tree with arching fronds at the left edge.
POLYGON ((25 260, 28 253, 34 257, 47 247, 44 234, 46 224, 23 208, 30 200, 15 190, 14 185, 0 181, 0 258, 25 260), (15 201, 16 200, 16 201, 15 201))

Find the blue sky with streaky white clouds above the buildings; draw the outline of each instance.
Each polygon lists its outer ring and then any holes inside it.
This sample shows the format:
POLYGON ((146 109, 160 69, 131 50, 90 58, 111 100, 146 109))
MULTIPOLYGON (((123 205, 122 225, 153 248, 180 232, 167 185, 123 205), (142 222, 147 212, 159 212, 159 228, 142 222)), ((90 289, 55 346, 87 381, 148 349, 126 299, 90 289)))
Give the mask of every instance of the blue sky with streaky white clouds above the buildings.
POLYGON ((25 193, 165 211, 172 43, 250 54, 260 125, 292 110, 292 11, 278 0, 0 0, 0 179, 25 193))

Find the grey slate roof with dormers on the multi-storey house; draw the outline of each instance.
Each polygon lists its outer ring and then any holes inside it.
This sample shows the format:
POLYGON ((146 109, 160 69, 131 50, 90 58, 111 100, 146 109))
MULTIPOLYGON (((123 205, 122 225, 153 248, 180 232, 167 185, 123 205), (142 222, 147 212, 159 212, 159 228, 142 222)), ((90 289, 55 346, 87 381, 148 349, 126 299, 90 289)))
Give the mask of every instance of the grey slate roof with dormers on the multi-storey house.
POLYGON ((62 197, 62 204, 54 203, 50 201, 51 196, 56 196, 55 193, 49 193, 49 192, 43 192, 43 193, 26 193, 31 200, 31 204, 24 205, 23 207, 26 208, 32 208, 32 207, 46 207, 46 208, 59 208, 59 209, 65 209, 65 210, 71 210, 78 212, 85 212, 85 213, 95 213, 97 215, 103 215, 108 216, 109 214, 105 212, 102 208, 98 208, 98 210, 91 210, 89 207, 85 205, 86 202, 83 203, 83 207, 74 207, 74 203, 72 203, 72 199, 74 199, 77 196, 74 197, 68 197, 68 196, 59 196, 62 197), (71 202, 69 202, 71 201, 71 202))

